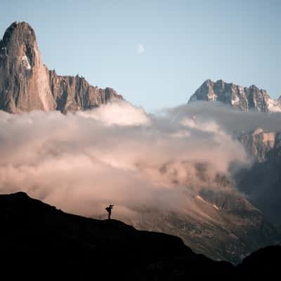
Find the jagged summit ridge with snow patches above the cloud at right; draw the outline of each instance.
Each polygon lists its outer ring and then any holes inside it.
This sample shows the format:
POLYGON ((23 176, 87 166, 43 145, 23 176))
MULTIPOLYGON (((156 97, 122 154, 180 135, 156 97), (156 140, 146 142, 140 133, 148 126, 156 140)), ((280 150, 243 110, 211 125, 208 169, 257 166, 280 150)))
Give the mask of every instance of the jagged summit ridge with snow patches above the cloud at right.
POLYGON ((220 101, 242 111, 281 112, 281 97, 274 100, 266 90, 254 85, 244 87, 223 80, 204 81, 188 103, 196 100, 220 101))

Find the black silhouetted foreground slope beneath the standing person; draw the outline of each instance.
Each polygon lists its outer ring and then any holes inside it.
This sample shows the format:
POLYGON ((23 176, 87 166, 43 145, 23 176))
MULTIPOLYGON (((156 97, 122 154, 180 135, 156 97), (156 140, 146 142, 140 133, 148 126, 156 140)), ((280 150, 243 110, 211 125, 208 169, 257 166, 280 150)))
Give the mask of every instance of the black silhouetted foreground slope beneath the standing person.
POLYGON ((10 277, 224 280, 252 271, 273 273, 277 263, 255 265, 267 262, 271 253, 274 260, 281 254, 281 247, 269 247, 235 268, 193 253, 178 237, 66 214, 23 192, 0 195, 0 224, 1 269, 10 277))

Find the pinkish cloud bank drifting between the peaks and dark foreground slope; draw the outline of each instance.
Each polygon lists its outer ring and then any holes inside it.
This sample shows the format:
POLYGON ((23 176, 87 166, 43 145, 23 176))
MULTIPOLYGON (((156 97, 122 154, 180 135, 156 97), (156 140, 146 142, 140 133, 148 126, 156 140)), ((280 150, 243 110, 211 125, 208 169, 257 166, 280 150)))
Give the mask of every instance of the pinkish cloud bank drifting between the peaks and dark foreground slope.
MULTIPOLYGON (((22 190, 86 216, 107 204, 117 216, 143 206, 188 211, 231 163, 247 163, 230 131, 249 116, 204 103, 155 116, 124 101, 67 115, 0 112, 0 192, 22 190)), ((275 116, 261 118, 277 126, 275 116)), ((256 119, 247 126, 260 126, 256 119)))

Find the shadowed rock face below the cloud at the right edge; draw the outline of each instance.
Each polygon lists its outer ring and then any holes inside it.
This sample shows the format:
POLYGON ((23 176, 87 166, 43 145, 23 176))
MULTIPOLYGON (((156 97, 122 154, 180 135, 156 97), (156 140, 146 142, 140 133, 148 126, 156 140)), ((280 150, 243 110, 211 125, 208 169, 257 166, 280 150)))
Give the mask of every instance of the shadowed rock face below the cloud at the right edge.
POLYGON ((235 175, 237 188, 276 225, 281 224, 281 133, 256 129, 240 136, 254 164, 235 175))

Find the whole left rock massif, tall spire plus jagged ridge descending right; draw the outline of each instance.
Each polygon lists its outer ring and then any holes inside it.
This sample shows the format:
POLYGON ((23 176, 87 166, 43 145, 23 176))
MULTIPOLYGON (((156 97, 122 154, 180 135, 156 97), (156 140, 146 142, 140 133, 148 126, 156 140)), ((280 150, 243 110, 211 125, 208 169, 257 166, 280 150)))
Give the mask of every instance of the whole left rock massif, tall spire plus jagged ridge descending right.
POLYGON ((43 65, 34 30, 14 22, 0 41, 0 110, 87 110, 112 99, 110 88, 91 86, 83 77, 58 76, 43 65))

